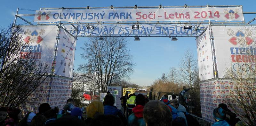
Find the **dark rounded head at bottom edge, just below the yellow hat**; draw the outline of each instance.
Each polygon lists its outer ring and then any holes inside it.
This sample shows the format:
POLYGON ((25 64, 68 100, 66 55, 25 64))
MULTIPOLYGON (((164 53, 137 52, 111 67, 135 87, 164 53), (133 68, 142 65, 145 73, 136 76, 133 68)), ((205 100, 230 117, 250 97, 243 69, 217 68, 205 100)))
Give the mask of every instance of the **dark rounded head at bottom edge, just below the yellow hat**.
POLYGON ((122 120, 115 115, 98 115, 91 124, 92 126, 123 126, 122 120))

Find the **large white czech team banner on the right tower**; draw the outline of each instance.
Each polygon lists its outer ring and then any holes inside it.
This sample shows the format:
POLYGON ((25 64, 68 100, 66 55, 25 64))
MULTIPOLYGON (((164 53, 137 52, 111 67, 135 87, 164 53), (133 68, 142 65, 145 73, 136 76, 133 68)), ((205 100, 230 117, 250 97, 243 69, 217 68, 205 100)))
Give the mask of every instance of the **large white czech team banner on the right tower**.
POLYGON ((227 69, 242 72, 244 78, 253 74, 256 27, 213 26, 212 31, 219 78, 226 77, 227 69))

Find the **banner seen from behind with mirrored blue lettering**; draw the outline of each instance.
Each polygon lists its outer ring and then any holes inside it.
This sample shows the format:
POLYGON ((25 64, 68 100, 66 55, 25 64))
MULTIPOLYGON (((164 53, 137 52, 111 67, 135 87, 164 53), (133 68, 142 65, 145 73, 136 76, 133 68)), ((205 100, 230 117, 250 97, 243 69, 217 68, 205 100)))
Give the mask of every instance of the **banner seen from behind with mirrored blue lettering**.
MULTIPOLYGON (((183 24, 166 24, 166 25, 150 25, 140 24, 139 29, 132 29, 132 25, 127 24, 98 24, 94 26, 93 30, 87 29, 86 25, 76 25, 78 31, 77 35, 80 36, 99 36, 99 35, 111 35, 111 36, 196 36, 200 35, 205 29, 201 24, 198 29, 195 25, 192 25, 191 29, 184 29, 183 24)), ((76 36, 76 30, 72 25, 65 25, 67 31, 76 36)))

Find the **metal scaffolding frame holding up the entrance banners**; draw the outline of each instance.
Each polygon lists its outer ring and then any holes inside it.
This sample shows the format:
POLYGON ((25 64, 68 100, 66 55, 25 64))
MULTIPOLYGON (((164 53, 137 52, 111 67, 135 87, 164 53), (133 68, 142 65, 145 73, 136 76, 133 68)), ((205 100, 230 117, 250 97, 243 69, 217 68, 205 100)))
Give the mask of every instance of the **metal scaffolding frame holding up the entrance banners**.
MULTIPOLYGON (((74 7, 74 8, 65 8, 65 7, 61 7, 61 8, 40 8, 40 10, 94 10, 94 9, 152 9, 152 8, 195 8, 195 7, 241 7, 242 5, 218 5, 218 6, 210 6, 210 5, 205 5, 205 6, 188 6, 188 5, 184 5, 184 6, 129 6, 129 7, 114 7, 114 6, 109 6, 109 7, 74 7)), ((243 14, 256 14, 256 12, 242 12, 243 14)), ((186 25, 186 24, 190 24, 194 26, 194 29, 191 31, 191 34, 188 34, 187 31, 185 29, 183 29, 185 31, 186 34, 184 35, 172 35, 172 34, 168 34, 164 31, 164 35, 151 35, 152 32, 150 32, 148 35, 145 33, 143 33, 142 35, 134 35, 134 34, 124 34, 124 35, 115 35, 112 37, 198 37, 200 36, 203 32, 205 32, 205 30, 208 28, 210 31, 210 39, 211 39, 211 48, 212 48, 212 56, 213 56, 213 67, 214 67, 214 79, 218 80, 218 72, 217 72, 217 63, 215 60, 215 48, 214 48, 214 42, 213 42, 213 34, 212 34, 212 26, 256 26, 256 24, 250 24, 252 23, 255 19, 253 18, 251 21, 249 21, 248 23, 243 21, 240 22, 235 22, 235 21, 212 21, 212 20, 207 20, 207 21, 129 21, 129 22, 113 22, 113 21, 109 21, 109 22, 64 22, 64 21, 58 21, 58 22, 44 22, 44 23, 40 23, 37 22, 32 23, 29 22, 26 17, 33 17, 36 14, 20 14, 19 13, 19 8, 17 9, 16 15, 15 15, 15 19, 14 19, 14 24, 13 26, 16 25, 16 21, 17 21, 17 17, 19 17, 21 20, 25 21, 25 24, 30 24, 32 26, 48 26, 48 25, 53 25, 53 26, 58 26, 59 30, 60 28, 64 29, 66 32, 68 32, 70 35, 72 35, 73 37, 77 38, 77 37, 105 37, 105 36, 112 36, 111 33, 113 31, 109 31, 108 33, 104 33, 103 35, 92 35, 91 33, 86 33, 84 35, 78 35, 78 31, 79 31, 79 26, 83 26, 83 25, 96 25, 96 26, 100 26, 101 28, 103 28, 102 25, 115 25, 115 27, 118 25, 120 27, 120 29, 123 30, 124 32, 124 28, 122 27, 122 24, 128 24, 128 25, 132 25, 132 24, 139 24, 140 27, 141 25, 153 25, 155 29, 156 26, 160 26, 162 27, 162 25, 175 25, 174 28, 176 28, 177 26, 179 28, 182 28, 182 26, 186 25), (198 34, 199 32, 199 34, 198 34), (74 34, 71 34, 74 33, 74 34)), ((102 32, 102 33, 103 33, 102 32)), ((143 31, 144 32, 144 31, 143 31)), ((173 31, 172 31, 173 32, 173 31)), ((59 33, 57 34, 57 44, 58 44, 58 39, 59 39, 59 33)), ((56 50, 57 51, 57 45, 56 45, 56 50)), ((56 54, 55 54, 56 56, 56 54)), ((55 59, 54 59, 55 60, 55 59)))

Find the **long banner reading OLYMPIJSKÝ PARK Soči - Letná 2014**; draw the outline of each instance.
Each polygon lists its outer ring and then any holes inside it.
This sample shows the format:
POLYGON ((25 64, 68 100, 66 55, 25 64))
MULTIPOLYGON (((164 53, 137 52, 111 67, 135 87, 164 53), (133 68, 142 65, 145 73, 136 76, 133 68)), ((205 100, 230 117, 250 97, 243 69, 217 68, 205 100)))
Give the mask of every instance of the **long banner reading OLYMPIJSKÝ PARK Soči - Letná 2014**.
POLYGON ((35 22, 243 21, 242 7, 37 10, 35 22))

